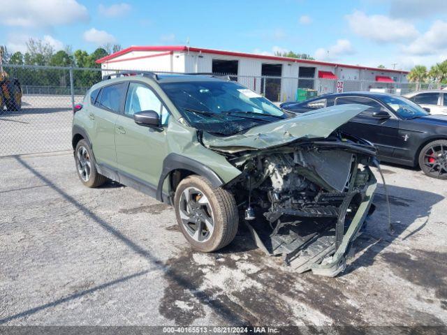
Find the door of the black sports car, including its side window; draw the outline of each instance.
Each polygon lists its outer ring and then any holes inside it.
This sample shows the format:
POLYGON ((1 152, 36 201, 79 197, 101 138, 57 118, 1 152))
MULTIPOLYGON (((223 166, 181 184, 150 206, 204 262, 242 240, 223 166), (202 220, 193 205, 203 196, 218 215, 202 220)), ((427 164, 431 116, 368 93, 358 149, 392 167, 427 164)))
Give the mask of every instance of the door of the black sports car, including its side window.
POLYGON ((342 126, 342 130, 372 142, 379 150, 379 156, 393 157, 397 141, 399 140, 399 120, 386 107, 372 98, 362 96, 342 96, 335 98, 335 105, 344 105, 347 103, 360 103, 370 107, 342 126), (390 119, 377 119, 372 117, 374 112, 380 111, 388 112, 390 119))

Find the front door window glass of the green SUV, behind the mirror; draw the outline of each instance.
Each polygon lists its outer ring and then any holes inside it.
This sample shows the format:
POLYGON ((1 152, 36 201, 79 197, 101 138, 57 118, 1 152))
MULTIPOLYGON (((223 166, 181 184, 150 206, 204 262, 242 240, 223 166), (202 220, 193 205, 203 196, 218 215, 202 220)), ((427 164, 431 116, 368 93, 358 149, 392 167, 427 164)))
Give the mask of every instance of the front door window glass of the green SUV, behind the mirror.
POLYGON ((161 124, 168 124, 168 110, 163 106, 160 99, 154 94, 149 87, 131 82, 129 91, 127 92, 126 107, 124 113, 132 116, 136 112, 143 110, 153 110, 160 115, 161 124))

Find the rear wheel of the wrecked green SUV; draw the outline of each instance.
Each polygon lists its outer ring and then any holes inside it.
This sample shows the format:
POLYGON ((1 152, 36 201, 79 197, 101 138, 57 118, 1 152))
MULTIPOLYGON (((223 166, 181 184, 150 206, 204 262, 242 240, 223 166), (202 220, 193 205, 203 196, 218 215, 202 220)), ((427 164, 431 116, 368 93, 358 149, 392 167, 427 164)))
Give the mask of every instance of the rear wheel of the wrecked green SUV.
POLYGON ((96 170, 94 156, 86 140, 80 140, 75 149, 76 172, 82 184, 87 187, 98 187, 107 181, 107 178, 96 170))

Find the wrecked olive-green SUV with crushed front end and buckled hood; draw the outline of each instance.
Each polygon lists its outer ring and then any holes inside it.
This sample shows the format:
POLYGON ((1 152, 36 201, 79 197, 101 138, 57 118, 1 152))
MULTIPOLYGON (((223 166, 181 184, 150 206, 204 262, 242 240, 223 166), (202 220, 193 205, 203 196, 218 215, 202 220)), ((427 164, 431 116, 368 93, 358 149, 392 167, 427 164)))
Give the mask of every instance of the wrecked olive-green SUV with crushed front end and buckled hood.
POLYGON ((173 205, 198 251, 230 244, 243 218, 266 253, 335 276, 374 208, 376 150, 337 131, 366 108, 296 116, 229 78, 118 73, 75 105, 76 170, 173 205))

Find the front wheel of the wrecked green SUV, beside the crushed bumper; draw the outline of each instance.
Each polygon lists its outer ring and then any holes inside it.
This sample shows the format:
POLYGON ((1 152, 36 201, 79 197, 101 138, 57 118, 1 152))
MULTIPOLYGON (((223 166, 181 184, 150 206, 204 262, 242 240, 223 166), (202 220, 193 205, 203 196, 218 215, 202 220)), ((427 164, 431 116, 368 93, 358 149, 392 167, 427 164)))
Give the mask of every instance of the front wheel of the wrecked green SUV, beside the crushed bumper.
POLYGON ((198 251, 216 251, 236 236, 239 215, 233 194, 212 188, 206 178, 180 181, 174 197, 175 216, 187 241, 198 251))

